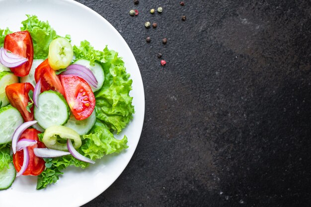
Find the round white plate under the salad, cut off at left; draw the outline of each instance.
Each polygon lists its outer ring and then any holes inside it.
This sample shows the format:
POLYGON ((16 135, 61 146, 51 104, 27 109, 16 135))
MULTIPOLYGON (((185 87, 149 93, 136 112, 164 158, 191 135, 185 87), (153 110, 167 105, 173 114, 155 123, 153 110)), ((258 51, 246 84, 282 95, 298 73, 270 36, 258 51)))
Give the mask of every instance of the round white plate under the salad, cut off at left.
POLYGON ((19 31, 25 14, 48 20, 59 35, 70 34, 73 44, 88 40, 95 49, 119 52, 133 79, 133 121, 123 130, 129 148, 117 155, 105 156, 85 170, 68 168, 58 182, 44 190, 36 189, 36 177, 21 176, 0 191, 0 207, 78 207, 105 191, 122 173, 138 144, 143 128, 145 96, 142 77, 135 58, 117 30, 102 16, 73 0, 0 0, 0 28, 19 31))

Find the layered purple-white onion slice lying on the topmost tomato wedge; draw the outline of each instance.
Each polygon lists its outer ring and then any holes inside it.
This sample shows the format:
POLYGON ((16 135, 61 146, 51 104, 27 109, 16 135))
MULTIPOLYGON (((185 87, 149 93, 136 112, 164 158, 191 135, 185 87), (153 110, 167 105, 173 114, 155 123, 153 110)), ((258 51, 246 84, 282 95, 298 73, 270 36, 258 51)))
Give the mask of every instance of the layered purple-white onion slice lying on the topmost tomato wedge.
POLYGON ((13 53, 7 53, 4 48, 0 48, 0 63, 8 68, 18 67, 28 61, 27 58, 13 53))

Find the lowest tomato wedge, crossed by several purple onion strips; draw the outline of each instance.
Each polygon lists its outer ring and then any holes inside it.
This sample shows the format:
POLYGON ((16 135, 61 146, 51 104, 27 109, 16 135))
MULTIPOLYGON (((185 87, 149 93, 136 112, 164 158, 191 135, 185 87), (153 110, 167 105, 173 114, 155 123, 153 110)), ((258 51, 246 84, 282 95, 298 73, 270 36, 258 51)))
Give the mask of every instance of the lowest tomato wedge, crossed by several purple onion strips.
MULTIPOLYGON (((45 148, 44 143, 39 141, 38 138, 39 133, 41 132, 39 132, 38 130, 27 129, 23 132, 23 134, 19 138, 19 139, 28 138, 37 141, 36 144, 32 146, 27 146, 29 152, 29 164, 23 175, 40 175, 45 168, 45 161, 42 158, 37 157, 33 152, 34 148, 45 148)), ((13 164, 17 172, 20 171, 23 165, 23 161, 24 161, 23 150, 17 151, 15 154, 13 154, 13 164)))

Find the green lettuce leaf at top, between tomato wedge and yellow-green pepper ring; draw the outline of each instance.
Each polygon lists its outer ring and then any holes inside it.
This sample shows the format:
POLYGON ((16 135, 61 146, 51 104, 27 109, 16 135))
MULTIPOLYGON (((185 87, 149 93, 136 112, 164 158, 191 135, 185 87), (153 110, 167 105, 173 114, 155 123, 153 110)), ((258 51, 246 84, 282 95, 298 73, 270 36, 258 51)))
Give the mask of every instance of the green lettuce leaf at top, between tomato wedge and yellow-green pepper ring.
POLYGON ((52 40, 60 37, 50 26, 49 22, 40 21, 36 15, 28 15, 26 20, 22 21, 21 31, 28 30, 32 42, 34 59, 46 59, 49 54, 49 46, 52 40))

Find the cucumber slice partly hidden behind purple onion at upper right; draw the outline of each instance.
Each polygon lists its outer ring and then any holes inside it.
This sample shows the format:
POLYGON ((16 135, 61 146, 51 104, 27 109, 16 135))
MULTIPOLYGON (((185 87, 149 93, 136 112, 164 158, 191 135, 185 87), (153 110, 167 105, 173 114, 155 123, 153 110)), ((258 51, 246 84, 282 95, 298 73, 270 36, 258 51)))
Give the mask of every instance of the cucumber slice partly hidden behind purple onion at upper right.
POLYGON ((90 85, 93 92, 99 90, 102 87, 102 85, 104 84, 104 80, 105 80, 105 74, 104 74, 104 70, 101 68, 101 66, 98 63, 95 63, 94 66, 90 66, 89 61, 80 59, 80 60, 75 61, 74 64, 85 66, 86 68, 90 69, 93 72, 93 74, 95 75, 98 81, 97 88, 90 85))

